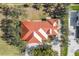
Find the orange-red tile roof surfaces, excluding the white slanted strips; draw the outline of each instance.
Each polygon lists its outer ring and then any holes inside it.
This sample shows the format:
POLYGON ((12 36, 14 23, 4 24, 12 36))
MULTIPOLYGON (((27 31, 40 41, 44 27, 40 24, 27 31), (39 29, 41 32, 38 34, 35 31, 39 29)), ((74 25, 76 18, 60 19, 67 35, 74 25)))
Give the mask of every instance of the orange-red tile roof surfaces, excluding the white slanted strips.
MULTIPOLYGON (((57 19, 48 19, 46 21, 21 21, 21 28, 22 33, 21 38, 22 40, 28 41, 28 43, 38 43, 39 41, 34 37, 33 32, 36 32, 43 40, 45 40, 45 37, 38 32, 40 28, 43 29, 43 31, 48 34, 49 29, 52 29, 52 35, 57 35, 57 33, 54 30, 58 31, 58 25, 53 26, 54 23, 57 23, 57 19)), ((49 33, 50 34, 50 33, 49 33)))

